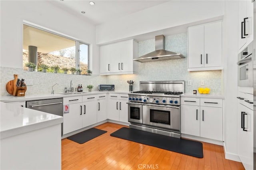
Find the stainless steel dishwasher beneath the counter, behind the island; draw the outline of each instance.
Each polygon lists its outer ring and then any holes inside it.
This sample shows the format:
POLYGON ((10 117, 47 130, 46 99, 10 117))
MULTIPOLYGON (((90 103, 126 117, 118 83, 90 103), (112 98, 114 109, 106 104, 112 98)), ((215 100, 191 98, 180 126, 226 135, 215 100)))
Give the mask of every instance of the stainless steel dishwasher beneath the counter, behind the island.
MULTIPOLYGON (((63 117, 63 98, 26 101, 26 107, 63 117)), ((63 123, 61 124, 61 136, 63 136, 63 123)))

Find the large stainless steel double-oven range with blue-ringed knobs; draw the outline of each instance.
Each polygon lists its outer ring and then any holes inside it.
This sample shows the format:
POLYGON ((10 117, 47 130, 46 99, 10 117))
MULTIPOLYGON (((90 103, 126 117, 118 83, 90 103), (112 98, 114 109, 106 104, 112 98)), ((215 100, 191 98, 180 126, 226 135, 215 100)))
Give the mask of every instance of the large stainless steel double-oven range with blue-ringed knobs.
POLYGON ((130 128, 180 138, 180 95, 184 81, 140 81, 140 91, 128 93, 130 128))

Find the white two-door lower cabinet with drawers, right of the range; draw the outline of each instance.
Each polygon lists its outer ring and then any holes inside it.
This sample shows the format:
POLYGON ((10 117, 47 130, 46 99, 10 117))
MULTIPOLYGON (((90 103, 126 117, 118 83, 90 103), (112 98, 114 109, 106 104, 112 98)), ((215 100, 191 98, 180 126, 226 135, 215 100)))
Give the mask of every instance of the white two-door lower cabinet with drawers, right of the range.
POLYGON ((222 141, 222 99, 182 97, 181 133, 222 141))

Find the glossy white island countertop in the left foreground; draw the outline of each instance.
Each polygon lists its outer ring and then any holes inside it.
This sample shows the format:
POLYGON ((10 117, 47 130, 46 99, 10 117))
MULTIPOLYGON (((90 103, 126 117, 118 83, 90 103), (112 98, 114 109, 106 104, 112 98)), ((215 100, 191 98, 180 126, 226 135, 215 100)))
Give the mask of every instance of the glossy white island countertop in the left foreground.
POLYGON ((0 102, 0 138, 63 123, 63 117, 0 102))

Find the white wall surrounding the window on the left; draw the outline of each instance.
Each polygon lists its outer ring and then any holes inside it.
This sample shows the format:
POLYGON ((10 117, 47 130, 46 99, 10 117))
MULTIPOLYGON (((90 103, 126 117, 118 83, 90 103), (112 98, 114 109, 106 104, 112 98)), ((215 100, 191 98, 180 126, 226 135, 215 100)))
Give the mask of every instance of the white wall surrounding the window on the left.
POLYGON ((99 50, 95 44, 95 26, 55 7, 50 1, 0 1, 0 66, 22 68, 23 20, 89 43, 90 69, 98 73, 99 50))

